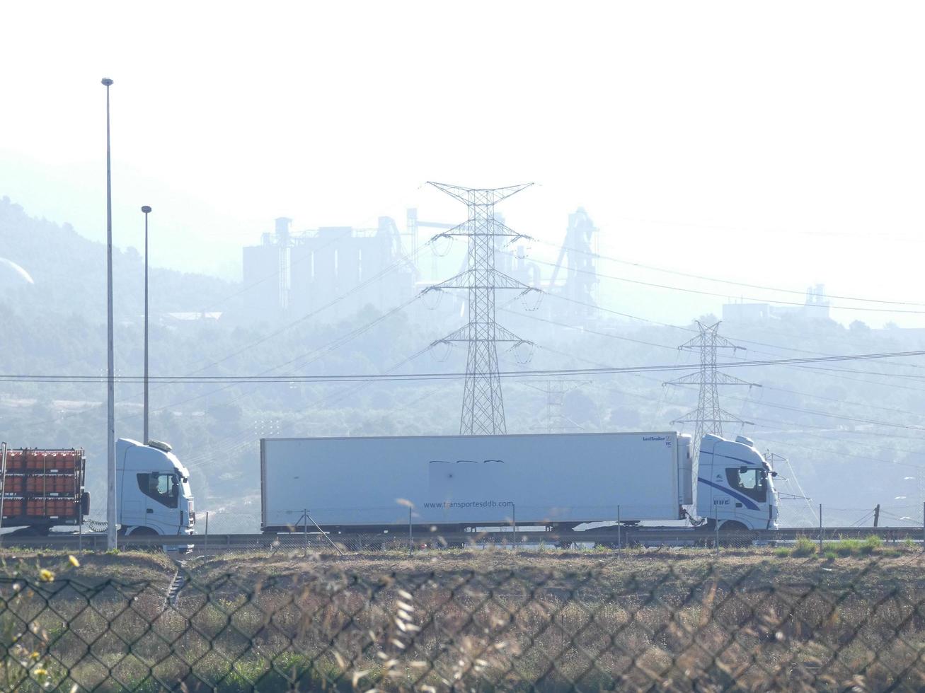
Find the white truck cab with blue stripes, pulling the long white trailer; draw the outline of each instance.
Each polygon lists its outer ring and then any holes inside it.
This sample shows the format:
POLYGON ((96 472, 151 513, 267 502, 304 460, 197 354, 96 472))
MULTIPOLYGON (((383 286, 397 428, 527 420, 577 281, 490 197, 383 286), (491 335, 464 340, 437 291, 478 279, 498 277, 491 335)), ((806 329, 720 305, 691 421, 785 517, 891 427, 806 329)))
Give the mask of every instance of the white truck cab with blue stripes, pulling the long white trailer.
POLYGON ((743 435, 727 441, 705 435, 697 470, 697 515, 709 528, 777 529, 776 472, 743 435))

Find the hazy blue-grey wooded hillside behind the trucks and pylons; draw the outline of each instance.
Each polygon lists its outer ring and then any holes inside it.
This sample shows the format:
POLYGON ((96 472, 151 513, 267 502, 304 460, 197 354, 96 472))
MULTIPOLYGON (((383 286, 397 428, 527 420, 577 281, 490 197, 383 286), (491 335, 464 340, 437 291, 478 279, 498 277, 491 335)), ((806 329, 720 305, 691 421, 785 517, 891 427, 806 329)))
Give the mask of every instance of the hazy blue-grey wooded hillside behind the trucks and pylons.
MULTIPOLYGON (((0 257, 19 263, 34 279, 33 285, 9 277, 0 282, 0 371, 105 374, 104 246, 81 237, 69 225, 31 218, 4 198, 0 257)), ((140 375, 138 253, 117 249, 115 274, 117 373, 140 375)), ((214 520, 215 531, 256 527, 260 437, 458 432, 459 381, 287 379, 464 371, 462 348, 444 353, 438 346, 429 355, 426 350, 462 324, 462 306, 452 298, 434 310, 421 300, 388 313, 371 306, 348 313, 335 305, 309 315, 290 315, 284 322, 243 322, 235 320, 235 301, 246 294, 247 286, 154 268, 151 287, 154 376, 283 376, 277 383, 152 386, 152 435, 173 444, 191 467, 197 510, 228 513, 224 527, 220 517, 214 520), (172 321, 166 316, 200 310, 222 312, 222 317, 172 321), (442 356, 444 361, 435 358, 442 356), (232 519, 238 524, 231 524, 232 519)), ((690 324, 611 320, 602 312, 597 324, 579 330, 564 325, 568 316, 563 317, 563 311, 568 308, 555 297, 547 297, 536 312, 505 303, 499 319, 537 346, 528 364, 515 359, 520 354, 502 350, 501 370, 675 363, 697 368, 696 354, 677 350, 694 334, 690 324)), ((730 359, 903 351, 918 348, 921 341, 914 330, 871 330, 860 322, 845 327, 796 317, 773 323, 723 323, 722 334, 746 347, 730 359)), ((883 505, 882 524, 920 521, 925 492, 925 459, 918 444, 925 427, 920 361, 881 359, 735 371, 761 386, 723 388, 722 406, 754 425, 731 425, 724 432, 745 433, 761 450, 788 457, 789 465, 776 463, 781 472, 778 485, 795 495, 802 488, 812 498, 788 501, 782 508, 784 522, 815 524, 820 502, 829 525, 851 524, 877 503, 883 505)), ((587 378, 566 395, 562 413, 588 432, 673 429, 672 421, 684 419, 697 405, 696 390, 662 386, 677 375, 587 378)), ((504 401, 508 432, 544 430, 546 395, 509 378, 504 381, 504 401)), ((141 402, 139 384, 117 385, 117 435, 141 437, 141 402)), ((0 383, 0 430, 11 445, 87 448, 89 485, 100 497, 105 478, 105 383, 0 383)), ((686 431, 691 432, 689 426, 686 431)))

